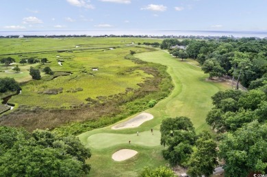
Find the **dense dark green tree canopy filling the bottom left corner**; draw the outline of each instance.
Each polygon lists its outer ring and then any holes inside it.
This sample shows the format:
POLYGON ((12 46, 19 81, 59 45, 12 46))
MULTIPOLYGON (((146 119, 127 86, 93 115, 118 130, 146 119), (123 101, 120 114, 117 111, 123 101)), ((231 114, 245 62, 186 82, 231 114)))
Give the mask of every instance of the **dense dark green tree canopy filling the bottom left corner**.
POLYGON ((83 176, 90 156, 77 137, 0 126, 0 176, 83 176))

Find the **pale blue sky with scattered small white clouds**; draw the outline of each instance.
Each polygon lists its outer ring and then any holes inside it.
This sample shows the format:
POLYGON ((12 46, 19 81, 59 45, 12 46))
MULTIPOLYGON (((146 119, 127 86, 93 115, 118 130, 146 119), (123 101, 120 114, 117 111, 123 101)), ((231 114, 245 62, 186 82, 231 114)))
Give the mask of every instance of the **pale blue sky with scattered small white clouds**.
POLYGON ((0 31, 267 31, 267 0, 1 0, 0 31))

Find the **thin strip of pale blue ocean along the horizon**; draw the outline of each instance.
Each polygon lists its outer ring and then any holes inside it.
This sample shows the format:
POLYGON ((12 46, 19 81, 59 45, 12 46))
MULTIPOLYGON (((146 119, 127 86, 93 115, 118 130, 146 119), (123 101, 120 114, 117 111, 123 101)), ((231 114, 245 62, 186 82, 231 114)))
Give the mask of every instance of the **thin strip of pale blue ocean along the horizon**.
POLYGON ((190 31, 190 30, 55 30, 55 31, 0 31, 0 36, 46 35, 147 35, 147 36, 227 36, 267 38, 267 31, 190 31))

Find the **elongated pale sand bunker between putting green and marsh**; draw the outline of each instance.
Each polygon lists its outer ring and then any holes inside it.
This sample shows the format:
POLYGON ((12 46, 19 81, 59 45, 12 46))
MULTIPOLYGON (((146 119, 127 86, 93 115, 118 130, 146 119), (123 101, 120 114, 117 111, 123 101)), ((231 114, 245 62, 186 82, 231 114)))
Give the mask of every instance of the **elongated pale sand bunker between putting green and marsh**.
POLYGON ((131 118, 130 120, 112 126, 112 129, 117 130, 123 128, 135 128, 151 119, 153 119, 153 115, 151 113, 140 113, 139 115, 136 115, 136 117, 131 118))

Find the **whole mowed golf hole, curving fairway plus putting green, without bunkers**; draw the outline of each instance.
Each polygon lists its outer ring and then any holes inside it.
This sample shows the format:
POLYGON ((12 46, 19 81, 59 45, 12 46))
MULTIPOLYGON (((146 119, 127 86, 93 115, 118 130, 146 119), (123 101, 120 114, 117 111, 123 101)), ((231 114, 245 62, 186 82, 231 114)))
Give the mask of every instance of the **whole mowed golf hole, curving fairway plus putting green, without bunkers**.
POLYGON ((168 164, 161 155, 163 147, 160 146, 159 131, 162 120, 183 115, 192 120, 197 133, 203 129, 209 130, 205 116, 212 107, 210 97, 227 88, 223 83, 205 81, 208 75, 203 74, 196 62, 190 59, 181 62, 164 51, 138 53, 135 56, 168 66, 167 71, 173 78, 175 88, 168 98, 146 110, 154 115, 154 119, 144 122, 138 128, 112 130, 112 126, 107 126, 78 136, 92 150, 92 158, 88 160, 92 165, 89 176, 138 176, 144 166, 168 164), (149 132, 151 128, 155 135, 149 132), (136 136, 137 131, 140 137, 136 136), (131 145, 128 140, 131 140, 131 145), (113 161, 112 154, 123 148, 137 150, 138 155, 127 161, 113 161))

